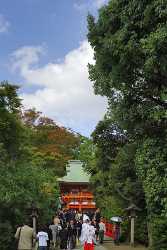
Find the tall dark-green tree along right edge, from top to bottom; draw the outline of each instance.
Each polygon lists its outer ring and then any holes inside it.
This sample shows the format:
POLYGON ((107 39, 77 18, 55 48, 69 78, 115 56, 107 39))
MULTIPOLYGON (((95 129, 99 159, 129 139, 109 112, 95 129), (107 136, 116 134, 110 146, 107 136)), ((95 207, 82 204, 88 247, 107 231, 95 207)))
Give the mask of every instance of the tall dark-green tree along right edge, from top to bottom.
POLYGON ((133 162, 144 187, 154 250, 165 249, 167 231, 162 224, 167 211, 166 153, 162 150, 167 137, 166 13, 164 1, 112 0, 100 9, 97 20, 88 16, 88 39, 95 58, 95 64, 89 65, 90 79, 95 93, 109 100, 111 126, 117 124, 126 132, 128 145, 136 145, 133 162), (158 184, 153 188, 153 183, 158 184), (161 203, 159 209, 154 199, 161 203))

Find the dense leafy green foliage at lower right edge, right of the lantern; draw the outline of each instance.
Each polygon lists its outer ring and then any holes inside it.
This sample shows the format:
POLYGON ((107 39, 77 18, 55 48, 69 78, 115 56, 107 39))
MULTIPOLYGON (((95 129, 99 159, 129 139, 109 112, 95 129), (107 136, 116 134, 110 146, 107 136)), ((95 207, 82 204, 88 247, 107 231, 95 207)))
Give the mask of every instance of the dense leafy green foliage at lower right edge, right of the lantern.
POLYGON ((167 195, 167 158, 166 140, 147 139, 141 144, 136 154, 139 176, 146 193, 149 216, 165 216, 167 195))

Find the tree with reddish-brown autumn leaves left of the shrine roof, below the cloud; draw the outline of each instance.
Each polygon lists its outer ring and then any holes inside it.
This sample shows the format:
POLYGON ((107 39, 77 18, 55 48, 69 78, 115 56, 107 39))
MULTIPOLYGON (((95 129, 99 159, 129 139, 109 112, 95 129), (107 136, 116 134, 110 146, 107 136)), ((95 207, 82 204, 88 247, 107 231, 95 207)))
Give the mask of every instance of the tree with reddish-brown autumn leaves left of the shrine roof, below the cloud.
POLYGON ((26 110, 22 119, 30 128, 33 146, 45 159, 46 167, 52 169, 57 176, 64 176, 67 162, 74 158, 80 144, 79 135, 58 126, 35 109, 26 110))

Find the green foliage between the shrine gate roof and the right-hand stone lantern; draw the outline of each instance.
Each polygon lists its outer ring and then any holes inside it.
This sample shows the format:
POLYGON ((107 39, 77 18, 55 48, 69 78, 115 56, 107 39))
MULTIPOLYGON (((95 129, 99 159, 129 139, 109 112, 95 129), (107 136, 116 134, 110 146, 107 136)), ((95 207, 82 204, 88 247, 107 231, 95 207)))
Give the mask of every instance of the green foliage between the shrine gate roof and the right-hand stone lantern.
POLYGON ((93 141, 85 139, 80 146, 80 158, 91 173, 91 184, 96 204, 105 218, 123 216, 122 240, 129 237, 129 221, 124 209, 130 202, 138 205, 142 220, 136 225, 136 240, 147 242, 145 197, 135 170, 136 144, 127 143, 126 135, 111 124, 101 121, 93 132, 93 141), (94 143, 94 144, 93 144, 94 143))

